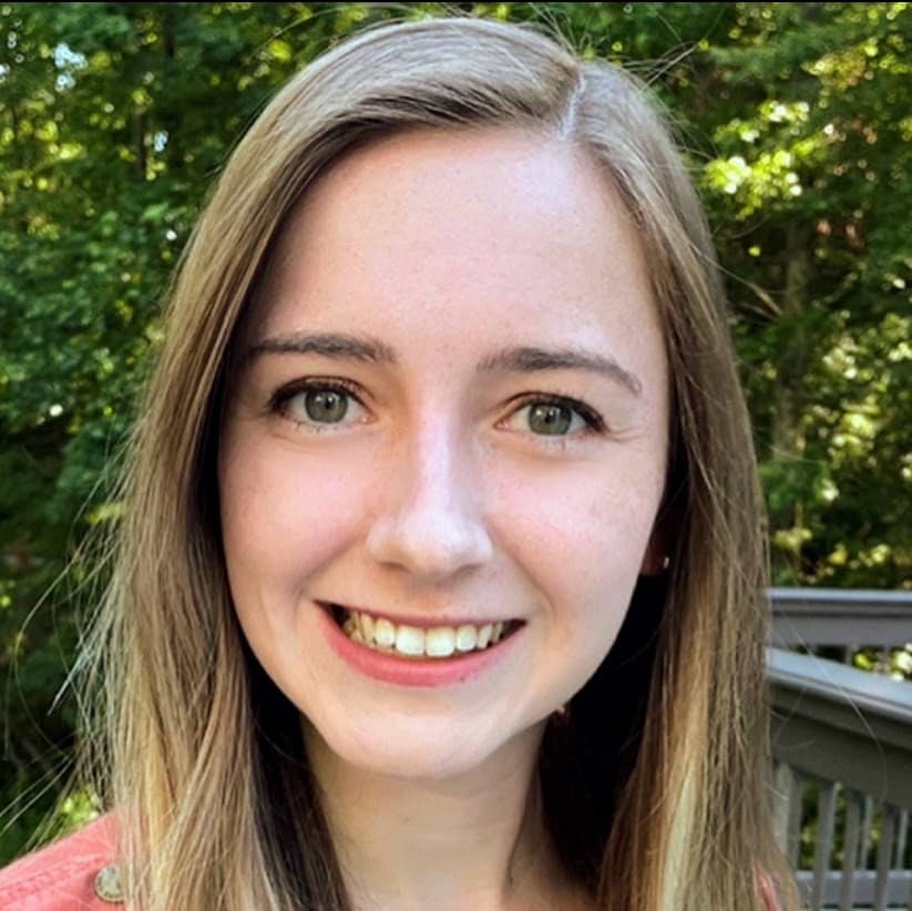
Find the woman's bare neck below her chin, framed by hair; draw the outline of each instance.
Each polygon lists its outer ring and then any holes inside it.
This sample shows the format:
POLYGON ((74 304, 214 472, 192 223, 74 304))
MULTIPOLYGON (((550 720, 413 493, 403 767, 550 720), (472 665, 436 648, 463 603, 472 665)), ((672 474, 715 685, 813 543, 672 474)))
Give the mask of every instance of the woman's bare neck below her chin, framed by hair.
MULTIPOLYGON (((346 887, 358 911, 545 908, 566 889, 541 815, 544 726, 447 779, 380 775, 305 740, 346 887)), ((560 907, 566 907, 562 904, 560 907)))

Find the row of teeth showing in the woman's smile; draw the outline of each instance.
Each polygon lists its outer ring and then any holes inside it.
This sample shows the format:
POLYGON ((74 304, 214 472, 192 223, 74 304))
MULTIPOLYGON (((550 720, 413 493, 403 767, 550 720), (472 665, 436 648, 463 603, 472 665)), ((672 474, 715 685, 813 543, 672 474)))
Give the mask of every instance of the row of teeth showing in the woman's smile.
POLYGON ((346 611, 342 632, 355 642, 368 645, 378 652, 396 652, 408 657, 445 658, 453 654, 465 654, 494 645, 503 636, 509 624, 485 623, 473 626, 463 623, 459 627, 433 626, 422 629, 401 624, 397 626, 385 617, 372 617, 353 611, 346 611))

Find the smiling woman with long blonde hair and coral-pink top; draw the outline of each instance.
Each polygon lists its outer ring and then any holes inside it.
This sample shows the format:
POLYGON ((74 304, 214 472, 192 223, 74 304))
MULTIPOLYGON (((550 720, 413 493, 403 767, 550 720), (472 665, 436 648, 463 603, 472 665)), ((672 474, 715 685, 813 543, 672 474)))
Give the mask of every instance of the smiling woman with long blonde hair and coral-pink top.
POLYGON ((751 437, 628 75, 475 19, 308 66, 197 225, 130 465, 115 811, 0 907, 99 866, 148 911, 792 902, 751 437))

